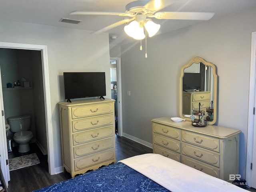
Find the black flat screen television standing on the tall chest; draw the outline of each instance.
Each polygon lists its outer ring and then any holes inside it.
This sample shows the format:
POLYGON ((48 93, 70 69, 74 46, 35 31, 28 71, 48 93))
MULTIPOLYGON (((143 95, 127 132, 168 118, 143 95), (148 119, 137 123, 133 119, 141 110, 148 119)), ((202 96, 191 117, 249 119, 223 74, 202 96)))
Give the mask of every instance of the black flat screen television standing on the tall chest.
POLYGON ((65 99, 106 96, 105 72, 64 72, 65 99))

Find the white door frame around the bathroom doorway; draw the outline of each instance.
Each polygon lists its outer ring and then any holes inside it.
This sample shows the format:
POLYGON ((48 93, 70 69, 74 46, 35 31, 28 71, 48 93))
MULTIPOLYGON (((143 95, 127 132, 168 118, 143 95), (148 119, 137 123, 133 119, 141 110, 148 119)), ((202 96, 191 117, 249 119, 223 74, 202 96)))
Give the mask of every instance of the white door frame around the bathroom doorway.
MULTIPOLYGON (((21 43, 10 43, 0 42, 0 48, 12 48, 12 49, 26 49, 26 50, 40 50, 42 56, 42 69, 43 69, 43 86, 44 86, 44 102, 45 102, 45 116, 46 116, 46 134, 47 134, 47 150, 48 150, 48 168, 51 175, 55 174, 54 171, 54 142, 52 134, 52 110, 50 102, 50 81, 49 81, 49 70, 48 70, 48 53, 46 45, 36 44, 21 44, 21 43)), ((2 82, 0 82, 2 84, 2 82)), ((3 98, 0 98, 2 101, 3 98)), ((0 129, 1 129, 0 125, 0 129)), ((5 127, 2 127, 5 130, 5 127)), ((6 138, 5 138, 6 139, 6 138)), ((7 145, 6 145, 7 150, 7 145)), ((8 159, 8 156, 7 158, 8 159)))

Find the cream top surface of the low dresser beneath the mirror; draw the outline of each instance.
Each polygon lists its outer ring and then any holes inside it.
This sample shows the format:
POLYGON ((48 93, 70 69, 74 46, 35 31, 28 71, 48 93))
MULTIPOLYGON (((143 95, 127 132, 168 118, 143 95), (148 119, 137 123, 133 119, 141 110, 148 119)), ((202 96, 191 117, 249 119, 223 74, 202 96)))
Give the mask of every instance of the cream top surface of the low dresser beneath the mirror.
POLYGON ((241 130, 238 129, 226 128, 216 125, 194 127, 192 126, 191 121, 173 122, 170 117, 155 118, 151 121, 217 138, 228 138, 241 132, 241 130))

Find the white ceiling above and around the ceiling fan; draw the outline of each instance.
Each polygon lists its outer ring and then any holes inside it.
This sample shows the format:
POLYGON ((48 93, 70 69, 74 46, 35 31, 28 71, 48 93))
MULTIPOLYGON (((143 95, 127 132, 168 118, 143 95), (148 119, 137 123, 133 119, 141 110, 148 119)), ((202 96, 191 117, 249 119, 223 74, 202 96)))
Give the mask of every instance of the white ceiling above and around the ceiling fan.
MULTIPOLYGON (((118 22, 121 16, 77 16, 72 11, 125 12, 125 6, 134 0, 0 0, 0 19, 34 24, 96 31, 118 22), (61 18, 82 20, 80 24, 59 22, 61 18)), ((256 0, 170 0, 175 3, 161 11, 214 12, 212 19, 256 7, 256 0)), ((154 20, 161 24, 160 33, 184 28, 198 22, 194 20, 154 20)), ((124 34, 124 24, 109 31, 109 36, 118 38, 110 42, 125 42, 130 37, 124 34)))

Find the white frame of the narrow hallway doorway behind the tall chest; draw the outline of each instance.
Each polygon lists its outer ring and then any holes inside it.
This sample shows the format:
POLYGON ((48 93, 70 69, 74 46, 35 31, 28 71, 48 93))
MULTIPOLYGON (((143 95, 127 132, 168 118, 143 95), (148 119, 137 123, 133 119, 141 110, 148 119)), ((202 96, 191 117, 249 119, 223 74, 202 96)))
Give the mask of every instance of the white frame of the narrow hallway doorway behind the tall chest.
POLYGON ((117 102, 118 102, 118 135, 123 136, 123 113, 122 113, 122 75, 121 75, 121 58, 120 57, 110 57, 110 60, 116 60, 116 84, 118 87, 117 92, 117 102))

